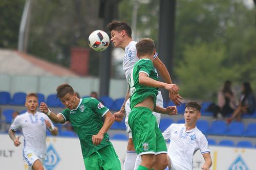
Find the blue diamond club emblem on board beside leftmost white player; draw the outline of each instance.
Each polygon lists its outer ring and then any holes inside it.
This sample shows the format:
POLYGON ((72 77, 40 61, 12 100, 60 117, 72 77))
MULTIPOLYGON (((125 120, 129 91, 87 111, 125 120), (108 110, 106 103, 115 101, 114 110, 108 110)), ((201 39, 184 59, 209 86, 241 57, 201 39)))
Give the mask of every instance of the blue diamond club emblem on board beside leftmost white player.
POLYGON ((45 167, 47 170, 53 170, 55 166, 59 163, 60 158, 53 145, 50 144, 47 148, 47 154, 45 159, 45 167))

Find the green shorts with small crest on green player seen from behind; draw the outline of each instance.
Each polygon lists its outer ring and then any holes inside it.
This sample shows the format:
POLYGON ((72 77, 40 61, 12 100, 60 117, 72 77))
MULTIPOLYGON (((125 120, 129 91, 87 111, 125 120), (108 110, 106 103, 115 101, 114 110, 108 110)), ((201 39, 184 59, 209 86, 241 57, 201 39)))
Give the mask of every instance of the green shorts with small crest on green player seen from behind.
POLYGON ((158 128, 156 117, 146 107, 134 107, 129 114, 133 143, 137 154, 167 154, 166 143, 158 128))

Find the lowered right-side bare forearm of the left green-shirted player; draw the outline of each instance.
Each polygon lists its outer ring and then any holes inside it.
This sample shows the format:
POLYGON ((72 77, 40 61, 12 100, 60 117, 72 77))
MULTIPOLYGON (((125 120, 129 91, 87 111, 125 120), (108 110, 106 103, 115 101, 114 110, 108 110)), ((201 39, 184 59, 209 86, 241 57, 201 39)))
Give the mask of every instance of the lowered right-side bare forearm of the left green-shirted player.
POLYGON ((104 123, 103 123, 102 128, 99 130, 97 135, 92 136, 92 140, 93 140, 94 145, 100 144, 100 142, 104 138, 104 134, 110 129, 110 127, 112 126, 114 121, 115 120, 114 120, 114 117, 112 116, 112 113, 110 111, 108 111, 104 115, 104 123))

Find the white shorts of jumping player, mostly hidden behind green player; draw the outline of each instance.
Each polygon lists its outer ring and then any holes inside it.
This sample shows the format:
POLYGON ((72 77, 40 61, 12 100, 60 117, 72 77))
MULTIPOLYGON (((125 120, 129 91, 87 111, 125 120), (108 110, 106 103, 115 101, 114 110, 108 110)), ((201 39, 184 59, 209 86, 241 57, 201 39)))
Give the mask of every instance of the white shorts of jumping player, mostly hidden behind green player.
MULTIPOLYGON (((157 105, 163 107, 163 96, 161 94, 161 91, 158 91, 158 95, 157 95, 157 105)), ((128 99, 125 103, 125 112, 126 112, 126 116, 125 116, 125 126, 126 126, 126 132, 129 135, 129 138, 133 138, 132 137, 132 130, 128 124, 128 117, 129 114, 131 112, 131 108, 130 108, 130 99, 128 99)), ((153 112, 153 114, 156 116, 157 118, 157 124, 159 127, 159 123, 160 123, 160 118, 161 118, 161 113, 157 113, 157 112, 153 112)))

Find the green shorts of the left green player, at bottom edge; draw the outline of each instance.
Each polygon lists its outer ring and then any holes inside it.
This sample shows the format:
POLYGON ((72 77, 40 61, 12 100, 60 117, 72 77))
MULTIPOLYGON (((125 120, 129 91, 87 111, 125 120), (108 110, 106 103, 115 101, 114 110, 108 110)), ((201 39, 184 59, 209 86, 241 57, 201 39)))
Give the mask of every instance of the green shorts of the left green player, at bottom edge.
POLYGON ((86 170, 121 170, 121 163, 113 145, 104 147, 83 158, 83 162, 86 170))

